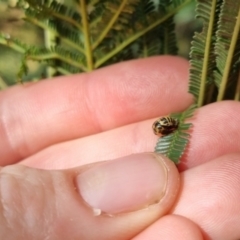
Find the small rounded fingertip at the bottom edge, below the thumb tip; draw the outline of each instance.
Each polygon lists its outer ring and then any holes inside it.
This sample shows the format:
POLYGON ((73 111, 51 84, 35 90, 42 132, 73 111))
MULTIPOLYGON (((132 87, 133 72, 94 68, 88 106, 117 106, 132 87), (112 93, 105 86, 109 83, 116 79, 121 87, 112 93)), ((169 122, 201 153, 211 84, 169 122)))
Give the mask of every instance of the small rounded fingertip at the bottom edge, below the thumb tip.
POLYGON ((166 215, 132 240, 203 240, 198 226, 187 218, 166 215))

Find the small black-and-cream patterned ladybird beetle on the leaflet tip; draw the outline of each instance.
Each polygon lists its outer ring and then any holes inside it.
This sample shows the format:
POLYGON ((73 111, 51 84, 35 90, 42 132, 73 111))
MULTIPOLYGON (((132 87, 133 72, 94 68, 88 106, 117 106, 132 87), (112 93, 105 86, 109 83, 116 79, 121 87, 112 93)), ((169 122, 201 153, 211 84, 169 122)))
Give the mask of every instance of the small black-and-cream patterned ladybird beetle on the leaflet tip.
POLYGON ((154 134, 158 136, 166 136, 173 133, 178 128, 178 120, 172 117, 162 117, 155 121, 152 125, 154 134))

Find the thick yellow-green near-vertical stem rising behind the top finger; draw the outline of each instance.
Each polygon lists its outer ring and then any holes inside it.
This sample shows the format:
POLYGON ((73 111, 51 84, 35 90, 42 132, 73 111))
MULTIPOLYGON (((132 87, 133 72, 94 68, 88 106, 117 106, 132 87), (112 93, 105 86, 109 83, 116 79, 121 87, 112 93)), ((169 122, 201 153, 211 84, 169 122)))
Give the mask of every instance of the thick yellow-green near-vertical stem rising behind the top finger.
POLYGON ((80 14, 82 17, 83 35, 85 38, 85 55, 87 59, 87 71, 93 70, 93 53, 91 48, 90 30, 88 23, 87 4, 85 0, 80 0, 80 14))

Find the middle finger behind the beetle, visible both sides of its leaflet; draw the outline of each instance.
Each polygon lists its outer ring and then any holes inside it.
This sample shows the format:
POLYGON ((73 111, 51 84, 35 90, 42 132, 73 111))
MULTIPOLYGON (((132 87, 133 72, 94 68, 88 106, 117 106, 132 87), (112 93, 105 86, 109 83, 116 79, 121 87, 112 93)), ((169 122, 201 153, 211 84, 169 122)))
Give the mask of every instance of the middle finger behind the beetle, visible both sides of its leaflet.
MULTIPOLYGON (((152 120, 51 146, 22 164, 62 169, 139 152, 152 152, 157 137, 152 120), (94 149, 94 150, 93 150, 94 149), (82 161, 79 162, 80 156, 82 161)), ((240 103, 225 101, 199 108, 189 120, 193 127, 190 143, 179 170, 197 166, 223 154, 240 151, 240 103)))

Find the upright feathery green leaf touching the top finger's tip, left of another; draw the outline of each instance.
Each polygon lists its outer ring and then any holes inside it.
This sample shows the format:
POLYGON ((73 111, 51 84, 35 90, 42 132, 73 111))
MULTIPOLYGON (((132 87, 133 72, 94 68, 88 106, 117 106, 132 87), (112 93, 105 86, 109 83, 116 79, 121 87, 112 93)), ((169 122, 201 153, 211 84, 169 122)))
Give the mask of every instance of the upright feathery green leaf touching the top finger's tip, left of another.
POLYGON ((197 17, 203 19, 203 30, 195 33, 190 52, 190 83, 192 93, 198 106, 204 104, 207 86, 213 83, 215 69, 215 32, 218 13, 223 0, 198 0, 197 17))

